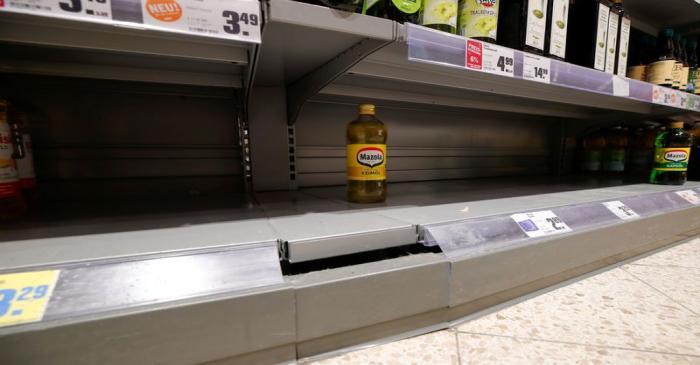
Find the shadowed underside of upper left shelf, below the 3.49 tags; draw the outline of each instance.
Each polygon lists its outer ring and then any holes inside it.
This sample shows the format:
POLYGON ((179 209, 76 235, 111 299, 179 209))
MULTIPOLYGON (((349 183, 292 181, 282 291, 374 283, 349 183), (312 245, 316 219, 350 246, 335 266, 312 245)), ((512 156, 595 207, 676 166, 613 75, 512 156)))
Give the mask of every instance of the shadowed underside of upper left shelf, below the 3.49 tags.
POLYGON ((125 24, 0 12, 0 71, 242 87, 255 46, 125 24))

